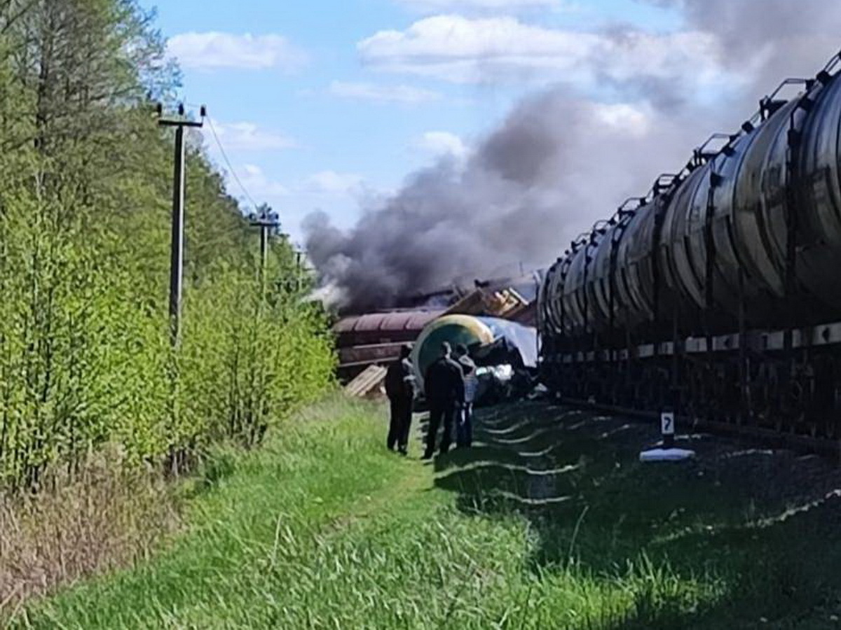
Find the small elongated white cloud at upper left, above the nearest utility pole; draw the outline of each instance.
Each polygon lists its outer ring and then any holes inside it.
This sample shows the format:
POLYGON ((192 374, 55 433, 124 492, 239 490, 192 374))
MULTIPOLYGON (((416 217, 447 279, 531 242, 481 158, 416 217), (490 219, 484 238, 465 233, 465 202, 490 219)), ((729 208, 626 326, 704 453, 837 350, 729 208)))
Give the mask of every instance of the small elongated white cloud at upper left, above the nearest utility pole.
POLYGON ((196 70, 281 68, 290 71, 306 60, 303 51, 277 34, 184 33, 170 39, 167 49, 181 66, 196 70))

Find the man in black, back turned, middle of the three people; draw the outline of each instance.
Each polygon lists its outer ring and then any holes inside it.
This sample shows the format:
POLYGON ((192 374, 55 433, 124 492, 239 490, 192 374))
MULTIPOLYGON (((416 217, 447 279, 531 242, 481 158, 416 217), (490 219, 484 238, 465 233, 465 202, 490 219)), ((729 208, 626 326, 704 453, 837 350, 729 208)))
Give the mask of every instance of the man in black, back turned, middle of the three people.
POLYGON ((441 454, 447 453, 452 443, 452 420, 458 403, 464 397, 464 378, 461 368, 452 357, 450 344, 445 341, 441 356, 426 369, 424 389, 429 404, 429 432, 426 433, 426 452, 423 459, 431 459, 435 452, 438 427, 444 423, 441 454))

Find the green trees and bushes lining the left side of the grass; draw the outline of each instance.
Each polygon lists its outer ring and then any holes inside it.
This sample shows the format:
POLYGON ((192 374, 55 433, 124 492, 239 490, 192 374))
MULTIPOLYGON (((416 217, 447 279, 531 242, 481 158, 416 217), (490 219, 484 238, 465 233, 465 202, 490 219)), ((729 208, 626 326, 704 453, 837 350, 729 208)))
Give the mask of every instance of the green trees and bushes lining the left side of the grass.
POLYGON ((135 0, 0 0, 2 490, 37 489, 106 444, 175 470, 214 441, 251 447, 331 382, 293 249, 273 239, 263 283, 197 136, 169 343, 172 132, 153 103, 172 107, 179 81, 135 0))

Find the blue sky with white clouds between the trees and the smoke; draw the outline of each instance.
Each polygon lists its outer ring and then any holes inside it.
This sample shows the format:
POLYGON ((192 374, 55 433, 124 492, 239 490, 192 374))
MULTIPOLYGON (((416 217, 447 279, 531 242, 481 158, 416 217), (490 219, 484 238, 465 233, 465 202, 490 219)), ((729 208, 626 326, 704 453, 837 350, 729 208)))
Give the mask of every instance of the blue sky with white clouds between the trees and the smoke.
POLYGON ((584 65, 582 50, 604 45, 593 34, 680 26, 674 11, 637 0, 142 4, 157 9, 181 61, 184 100, 207 104, 251 197, 272 204, 299 242, 310 211, 352 226, 361 204, 410 172, 466 155, 526 93, 569 73, 592 92, 586 71, 557 62, 584 65))

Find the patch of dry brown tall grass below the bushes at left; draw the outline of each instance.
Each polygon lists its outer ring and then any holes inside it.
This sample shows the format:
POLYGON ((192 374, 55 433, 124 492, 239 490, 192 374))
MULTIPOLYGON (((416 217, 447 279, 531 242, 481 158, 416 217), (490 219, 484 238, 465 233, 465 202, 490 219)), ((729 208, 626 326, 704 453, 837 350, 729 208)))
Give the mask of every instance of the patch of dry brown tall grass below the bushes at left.
POLYGON ((0 618, 61 586, 149 559, 177 528, 177 495, 159 471, 103 449, 48 469, 38 494, 0 495, 0 618))

